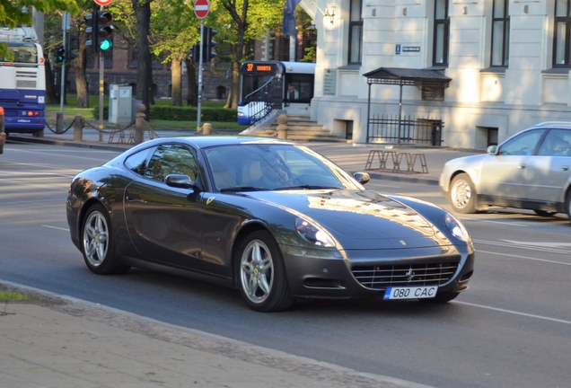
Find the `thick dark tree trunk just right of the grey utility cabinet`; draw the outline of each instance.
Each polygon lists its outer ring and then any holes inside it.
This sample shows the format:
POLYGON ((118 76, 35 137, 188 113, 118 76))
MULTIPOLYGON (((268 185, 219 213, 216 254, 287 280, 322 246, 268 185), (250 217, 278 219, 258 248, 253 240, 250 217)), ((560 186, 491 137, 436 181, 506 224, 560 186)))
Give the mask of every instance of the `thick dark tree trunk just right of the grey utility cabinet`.
POLYGON ((151 52, 149 51, 149 27, 151 23, 151 1, 131 0, 136 13, 136 98, 145 105, 147 121, 151 118, 149 89, 153 86, 151 52), (151 75, 151 76, 149 76, 151 75))

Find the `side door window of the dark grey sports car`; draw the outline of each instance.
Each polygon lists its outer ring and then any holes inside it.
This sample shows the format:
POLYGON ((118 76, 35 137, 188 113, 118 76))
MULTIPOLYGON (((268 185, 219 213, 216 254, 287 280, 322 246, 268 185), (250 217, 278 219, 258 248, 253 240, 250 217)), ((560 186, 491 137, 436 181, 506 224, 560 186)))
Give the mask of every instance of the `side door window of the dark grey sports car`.
POLYGON ((145 177, 154 181, 164 181, 169 174, 188 175, 196 181, 198 164, 194 154, 184 145, 159 145, 149 160, 145 177))

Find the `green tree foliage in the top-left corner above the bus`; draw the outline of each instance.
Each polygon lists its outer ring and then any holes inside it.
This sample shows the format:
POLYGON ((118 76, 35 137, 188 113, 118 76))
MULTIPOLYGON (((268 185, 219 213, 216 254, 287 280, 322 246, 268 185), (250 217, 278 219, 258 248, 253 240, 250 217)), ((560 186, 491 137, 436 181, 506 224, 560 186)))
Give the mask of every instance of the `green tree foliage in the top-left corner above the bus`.
MULTIPOLYGON (((30 7, 43 13, 53 13, 57 10, 79 13, 75 0, 0 0, 0 26, 13 29, 19 25, 31 25, 31 13, 27 11, 30 7)), ((0 43, 0 57, 12 58, 6 43, 0 43)))

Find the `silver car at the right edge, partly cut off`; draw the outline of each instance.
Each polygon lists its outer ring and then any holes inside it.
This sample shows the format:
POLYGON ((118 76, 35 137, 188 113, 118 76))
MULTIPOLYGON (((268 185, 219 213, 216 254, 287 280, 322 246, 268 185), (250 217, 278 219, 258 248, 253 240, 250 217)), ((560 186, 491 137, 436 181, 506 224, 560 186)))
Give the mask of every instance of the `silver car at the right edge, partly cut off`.
POLYGON ((540 123, 490 145, 488 154, 446 163, 440 189, 458 213, 497 206, 571 217, 570 144, 571 122, 540 123))

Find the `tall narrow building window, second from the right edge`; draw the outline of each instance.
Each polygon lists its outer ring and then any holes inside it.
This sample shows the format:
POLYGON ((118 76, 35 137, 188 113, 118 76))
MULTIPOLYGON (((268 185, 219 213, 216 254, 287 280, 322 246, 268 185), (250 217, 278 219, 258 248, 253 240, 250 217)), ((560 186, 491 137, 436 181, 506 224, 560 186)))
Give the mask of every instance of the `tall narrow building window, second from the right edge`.
POLYGON ((491 66, 508 66, 510 54, 510 16, 508 0, 494 0, 491 66))

